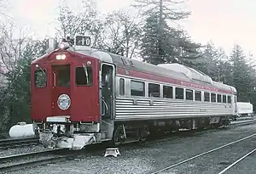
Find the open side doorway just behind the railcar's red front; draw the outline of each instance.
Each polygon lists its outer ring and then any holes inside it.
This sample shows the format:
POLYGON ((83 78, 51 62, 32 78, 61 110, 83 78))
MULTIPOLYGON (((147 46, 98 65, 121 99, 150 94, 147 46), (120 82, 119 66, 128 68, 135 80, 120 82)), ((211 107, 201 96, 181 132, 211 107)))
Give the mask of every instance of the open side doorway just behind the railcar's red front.
POLYGON ((100 71, 102 120, 115 118, 115 65, 103 62, 100 71))

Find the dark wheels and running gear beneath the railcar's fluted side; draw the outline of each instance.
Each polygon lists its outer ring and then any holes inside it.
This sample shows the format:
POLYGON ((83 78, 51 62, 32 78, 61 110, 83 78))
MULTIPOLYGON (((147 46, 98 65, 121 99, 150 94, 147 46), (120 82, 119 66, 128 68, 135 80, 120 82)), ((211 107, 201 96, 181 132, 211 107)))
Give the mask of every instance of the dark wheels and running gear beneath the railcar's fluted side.
POLYGON ((205 129, 228 126, 230 117, 175 119, 168 121, 117 122, 113 132, 113 143, 145 141, 148 136, 178 132, 180 129, 205 129))

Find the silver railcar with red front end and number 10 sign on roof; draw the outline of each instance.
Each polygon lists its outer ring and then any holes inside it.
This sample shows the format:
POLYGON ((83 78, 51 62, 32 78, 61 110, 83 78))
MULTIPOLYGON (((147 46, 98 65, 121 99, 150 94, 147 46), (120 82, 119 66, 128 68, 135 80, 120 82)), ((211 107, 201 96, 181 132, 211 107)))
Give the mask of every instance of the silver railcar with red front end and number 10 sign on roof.
POLYGON ((48 149, 145 141, 179 129, 228 126, 236 88, 180 64, 150 65, 62 39, 31 64, 31 119, 48 149))

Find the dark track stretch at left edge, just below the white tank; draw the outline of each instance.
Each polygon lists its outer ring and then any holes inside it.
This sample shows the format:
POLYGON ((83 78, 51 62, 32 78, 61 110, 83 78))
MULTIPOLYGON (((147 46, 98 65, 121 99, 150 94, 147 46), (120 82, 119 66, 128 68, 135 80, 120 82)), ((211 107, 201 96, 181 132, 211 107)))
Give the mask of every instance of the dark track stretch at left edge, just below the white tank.
POLYGON ((0 139, 0 149, 9 149, 38 144, 38 138, 8 138, 0 139))

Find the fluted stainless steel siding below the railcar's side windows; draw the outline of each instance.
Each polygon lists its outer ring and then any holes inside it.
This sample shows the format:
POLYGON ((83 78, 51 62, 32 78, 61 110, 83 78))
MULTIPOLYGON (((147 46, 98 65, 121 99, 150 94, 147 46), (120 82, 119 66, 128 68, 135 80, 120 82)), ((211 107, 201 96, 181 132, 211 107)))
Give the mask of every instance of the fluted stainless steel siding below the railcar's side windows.
POLYGON ((232 115, 231 104, 207 103, 186 100, 116 98, 115 120, 148 120, 166 118, 188 118, 201 116, 232 115))

